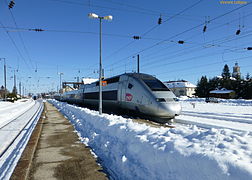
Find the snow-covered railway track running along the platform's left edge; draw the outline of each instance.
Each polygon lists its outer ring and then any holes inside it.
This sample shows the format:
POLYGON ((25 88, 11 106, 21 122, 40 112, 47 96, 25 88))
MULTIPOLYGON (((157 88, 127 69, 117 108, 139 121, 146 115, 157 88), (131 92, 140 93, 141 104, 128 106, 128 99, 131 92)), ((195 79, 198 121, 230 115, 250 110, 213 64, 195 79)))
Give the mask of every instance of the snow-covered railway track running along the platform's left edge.
POLYGON ((5 172, 14 170, 43 107, 42 101, 36 101, 29 110, 0 127, 0 179, 5 178, 5 172))

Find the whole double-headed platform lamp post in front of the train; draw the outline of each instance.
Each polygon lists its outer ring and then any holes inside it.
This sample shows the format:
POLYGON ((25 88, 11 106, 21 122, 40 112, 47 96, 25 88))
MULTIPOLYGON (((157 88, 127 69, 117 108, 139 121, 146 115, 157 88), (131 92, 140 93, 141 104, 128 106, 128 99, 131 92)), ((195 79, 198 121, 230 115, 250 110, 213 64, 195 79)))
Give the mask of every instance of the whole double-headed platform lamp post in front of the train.
POLYGON ((89 13, 88 17, 91 19, 99 19, 100 20, 100 62, 99 62, 99 114, 102 114, 102 20, 110 20, 112 21, 112 16, 98 16, 94 13, 89 13))

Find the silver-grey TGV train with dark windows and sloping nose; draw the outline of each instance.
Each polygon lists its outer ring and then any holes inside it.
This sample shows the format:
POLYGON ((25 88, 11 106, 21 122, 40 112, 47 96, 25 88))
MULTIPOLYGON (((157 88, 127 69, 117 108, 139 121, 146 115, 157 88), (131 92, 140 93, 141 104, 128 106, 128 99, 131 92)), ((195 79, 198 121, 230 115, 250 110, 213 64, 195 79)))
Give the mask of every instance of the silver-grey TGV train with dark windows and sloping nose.
MULTIPOLYGON (((142 73, 125 73, 104 79, 102 107, 113 111, 133 112, 144 118, 165 123, 181 113, 176 96, 157 78, 142 73)), ((99 81, 83 84, 65 92, 62 101, 98 107, 99 81)))

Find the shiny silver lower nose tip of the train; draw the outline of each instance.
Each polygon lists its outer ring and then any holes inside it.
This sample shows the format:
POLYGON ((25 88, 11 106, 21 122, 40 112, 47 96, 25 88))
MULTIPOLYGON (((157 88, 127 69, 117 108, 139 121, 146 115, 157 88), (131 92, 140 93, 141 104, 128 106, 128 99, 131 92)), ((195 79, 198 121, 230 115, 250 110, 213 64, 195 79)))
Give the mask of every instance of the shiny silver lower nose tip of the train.
POLYGON ((158 107, 158 114, 162 117, 174 118, 181 113, 181 105, 179 102, 160 103, 158 107))

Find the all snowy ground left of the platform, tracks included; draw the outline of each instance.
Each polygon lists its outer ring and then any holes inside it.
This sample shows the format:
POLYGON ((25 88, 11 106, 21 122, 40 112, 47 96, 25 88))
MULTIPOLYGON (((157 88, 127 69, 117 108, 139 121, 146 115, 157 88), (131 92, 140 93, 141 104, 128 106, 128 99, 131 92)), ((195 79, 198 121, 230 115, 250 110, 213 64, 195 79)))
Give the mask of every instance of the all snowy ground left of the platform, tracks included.
POLYGON ((42 101, 0 102, 0 179, 9 179, 42 113, 42 101))

